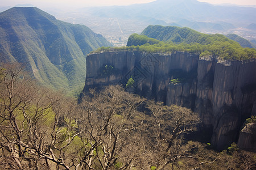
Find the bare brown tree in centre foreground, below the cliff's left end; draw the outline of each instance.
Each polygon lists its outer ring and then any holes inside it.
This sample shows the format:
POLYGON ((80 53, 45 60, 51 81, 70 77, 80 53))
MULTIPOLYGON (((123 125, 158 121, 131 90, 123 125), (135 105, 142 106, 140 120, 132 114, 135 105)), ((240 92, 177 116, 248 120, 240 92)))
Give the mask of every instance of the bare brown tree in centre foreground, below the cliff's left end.
POLYGON ((109 169, 130 157, 123 152, 127 149, 124 138, 136 129, 131 120, 144 99, 123 91, 119 86, 107 87, 101 93, 91 90, 91 96, 84 97, 81 103, 79 121, 86 129, 82 135, 91 146, 82 162, 88 167, 98 164, 98 168, 109 169), (93 151, 96 156, 93 156, 93 151))

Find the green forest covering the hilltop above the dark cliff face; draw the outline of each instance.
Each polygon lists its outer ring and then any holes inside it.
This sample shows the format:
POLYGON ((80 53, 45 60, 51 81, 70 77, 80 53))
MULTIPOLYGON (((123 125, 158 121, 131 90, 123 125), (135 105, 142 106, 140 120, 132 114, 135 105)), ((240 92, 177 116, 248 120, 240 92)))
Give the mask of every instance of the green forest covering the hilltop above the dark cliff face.
POLYGON ((250 59, 256 57, 254 48, 243 48, 238 42, 228 39, 224 35, 207 35, 190 28, 163 27, 150 25, 142 32, 129 37, 127 46, 106 48, 102 50, 140 50, 144 52, 173 53, 190 52, 200 54, 200 57, 215 56, 218 59, 250 59))

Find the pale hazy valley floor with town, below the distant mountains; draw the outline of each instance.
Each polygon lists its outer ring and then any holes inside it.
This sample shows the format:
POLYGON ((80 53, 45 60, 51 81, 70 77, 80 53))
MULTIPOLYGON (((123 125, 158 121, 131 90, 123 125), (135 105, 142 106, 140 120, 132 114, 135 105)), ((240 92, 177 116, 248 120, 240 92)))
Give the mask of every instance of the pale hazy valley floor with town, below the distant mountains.
MULTIPOLYGON (((74 14, 74 16, 65 16, 59 15, 58 18, 65 22, 73 23, 73 24, 84 24, 91 28, 94 32, 100 33, 103 35, 110 43, 114 46, 124 46, 127 43, 127 40, 131 33, 141 33, 144 28, 148 25, 168 25, 167 23, 161 24, 157 22, 139 22, 138 20, 133 19, 122 19, 122 18, 101 18, 93 15, 83 16, 80 13, 74 14), (122 28, 122 32, 120 31, 118 22, 120 27, 122 28), (107 26, 106 26, 107 25, 107 26), (120 39, 121 38, 121 39, 120 39)), ((175 25, 175 24, 170 24, 175 25)), ((181 26, 181 25, 179 25, 181 26)), ((182 26, 181 26, 182 27, 182 26)), ((184 25, 183 27, 187 27, 184 25)), ((256 33, 253 29, 247 28, 233 28, 228 30, 214 30, 214 29, 196 29, 202 33, 220 33, 222 35, 226 35, 229 33, 235 33, 241 37, 244 37, 247 40, 256 40, 256 33)))

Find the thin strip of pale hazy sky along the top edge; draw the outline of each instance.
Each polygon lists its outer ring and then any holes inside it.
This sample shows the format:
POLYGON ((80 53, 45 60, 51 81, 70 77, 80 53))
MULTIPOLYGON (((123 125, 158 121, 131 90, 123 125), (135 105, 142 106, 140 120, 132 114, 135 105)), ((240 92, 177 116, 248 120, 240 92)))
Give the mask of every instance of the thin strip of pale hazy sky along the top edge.
MULTIPOLYGON (((47 6, 106 6, 106 5, 130 5, 133 3, 147 3, 154 0, 0 0, 0 6, 15 6, 18 4, 29 3, 37 7, 47 6)), ((237 5, 256 5, 256 0, 198 0, 201 2, 208 2, 213 4, 233 3, 237 5)))

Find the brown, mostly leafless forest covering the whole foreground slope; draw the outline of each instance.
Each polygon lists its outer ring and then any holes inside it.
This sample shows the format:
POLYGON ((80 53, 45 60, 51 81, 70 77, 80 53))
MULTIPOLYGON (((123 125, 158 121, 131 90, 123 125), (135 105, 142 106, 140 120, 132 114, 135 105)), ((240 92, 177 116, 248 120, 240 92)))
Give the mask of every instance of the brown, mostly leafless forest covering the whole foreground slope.
MULTIPOLYGON (((40 87, 17 63, 0 69, 0 169, 253 169, 235 143, 216 152, 190 140, 190 109, 155 103, 119 86, 80 103, 40 87)), ((249 120, 250 121, 250 120, 249 120)))

